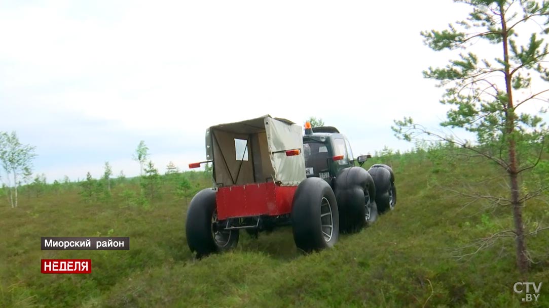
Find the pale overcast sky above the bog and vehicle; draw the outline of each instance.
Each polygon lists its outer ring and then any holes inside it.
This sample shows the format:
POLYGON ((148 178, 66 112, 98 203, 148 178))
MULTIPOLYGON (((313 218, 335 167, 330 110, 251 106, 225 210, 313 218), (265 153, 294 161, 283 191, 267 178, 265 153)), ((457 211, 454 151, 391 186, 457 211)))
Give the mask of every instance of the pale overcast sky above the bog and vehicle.
POLYGON ((444 117, 422 78, 447 54, 419 32, 463 19, 451 0, 1 1, 0 131, 36 146, 48 181, 161 172, 205 158, 204 133, 265 114, 321 117, 355 155, 409 149, 391 131, 444 117))

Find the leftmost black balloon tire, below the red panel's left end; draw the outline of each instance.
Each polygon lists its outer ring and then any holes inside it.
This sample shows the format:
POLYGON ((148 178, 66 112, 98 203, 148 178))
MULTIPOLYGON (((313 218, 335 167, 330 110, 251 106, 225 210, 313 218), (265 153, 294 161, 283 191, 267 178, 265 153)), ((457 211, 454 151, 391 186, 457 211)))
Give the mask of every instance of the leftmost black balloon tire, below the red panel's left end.
POLYGON ((213 189, 199 191, 187 211, 187 244, 199 258, 234 248, 238 243, 238 230, 217 228, 215 193, 213 189))

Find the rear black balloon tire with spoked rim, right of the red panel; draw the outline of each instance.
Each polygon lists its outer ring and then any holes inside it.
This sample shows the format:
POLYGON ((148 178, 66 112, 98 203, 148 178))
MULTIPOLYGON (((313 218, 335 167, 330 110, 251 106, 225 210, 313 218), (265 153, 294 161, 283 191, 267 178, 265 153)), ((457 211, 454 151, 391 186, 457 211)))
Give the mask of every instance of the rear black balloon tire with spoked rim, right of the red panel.
POLYGON ((292 203, 295 245, 304 252, 333 247, 339 238, 338 203, 332 187, 320 178, 302 181, 292 203))

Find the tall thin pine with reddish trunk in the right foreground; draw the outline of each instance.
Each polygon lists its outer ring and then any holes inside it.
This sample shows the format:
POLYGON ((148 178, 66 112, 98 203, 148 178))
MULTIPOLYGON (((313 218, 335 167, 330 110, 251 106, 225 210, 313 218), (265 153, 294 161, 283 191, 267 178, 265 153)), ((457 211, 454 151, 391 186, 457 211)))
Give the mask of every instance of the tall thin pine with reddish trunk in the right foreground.
MULTIPOLYGON (((549 45, 542 36, 549 33, 549 1, 455 2, 470 5, 467 20, 450 24, 446 30, 422 32, 422 36, 433 50, 462 50, 462 53, 445 67, 429 67, 423 75, 438 81, 439 87, 445 89, 440 102, 451 109, 441 126, 466 129, 476 140, 471 142, 433 132, 409 117, 395 121, 394 130, 409 141, 429 139, 458 145, 485 157, 507 173, 509 196, 490 198, 497 200, 496 206, 502 203, 512 209, 517 266, 524 273, 529 266, 525 239, 528 233, 522 214, 524 202, 549 188, 545 183, 530 192, 520 191, 523 172, 537 167, 546 147, 544 137, 549 133, 540 117, 545 111, 536 114, 524 110, 524 106, 536 100, 547 101, 547 96, 542 95, 549 92, 546 83, 549 81, 546 67, 549 45), (540 29, 540 35, 529 32, 529 28, 524 27, 527 24, 540 29), (524 35, 526 39, 522 39, 524 35), (473 53, 474 49, 489 54, 482 59, 473 53), (424 138, 425 135, 428 137, 424 138)), ((490 198, 484 196, 484 199, 490 198)))

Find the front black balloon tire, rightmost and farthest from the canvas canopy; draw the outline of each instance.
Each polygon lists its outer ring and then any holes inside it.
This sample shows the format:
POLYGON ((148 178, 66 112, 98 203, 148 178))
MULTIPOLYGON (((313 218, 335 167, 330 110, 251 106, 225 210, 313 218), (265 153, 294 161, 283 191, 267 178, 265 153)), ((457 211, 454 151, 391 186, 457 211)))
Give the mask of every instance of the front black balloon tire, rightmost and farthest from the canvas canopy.
POLYGON ((376 203, 379 214, 392 210, 396 206, 396 186, 393 169, 385 164, 374 164, 368 173, 376 183, 376 203))

